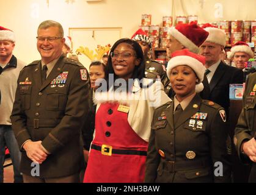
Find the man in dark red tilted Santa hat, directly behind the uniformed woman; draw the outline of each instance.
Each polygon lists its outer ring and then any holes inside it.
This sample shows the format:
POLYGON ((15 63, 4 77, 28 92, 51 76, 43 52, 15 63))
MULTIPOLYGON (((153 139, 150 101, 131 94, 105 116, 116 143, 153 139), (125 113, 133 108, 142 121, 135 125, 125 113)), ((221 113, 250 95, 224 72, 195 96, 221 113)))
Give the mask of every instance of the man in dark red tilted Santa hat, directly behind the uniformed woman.
MULTIPOLYGON (((181 49, 189 49, 189 51, 198 54, 199 46, 207 39, 208 32, 197 25, 196 22, 189 24, 178 24, 168 30, 168 41, 166 45, 167 56, 171 57, 172 53, 181 49)), ((208 99, 210 94, 210 86, 206 75, 204 76, 203 85, 196 92, 200 92, 200 97, 208 99)), ((169 84, 170 85, 170 84, 169 84)), ((174 91, 169 87, 169 97, 174 98, 174 91)))

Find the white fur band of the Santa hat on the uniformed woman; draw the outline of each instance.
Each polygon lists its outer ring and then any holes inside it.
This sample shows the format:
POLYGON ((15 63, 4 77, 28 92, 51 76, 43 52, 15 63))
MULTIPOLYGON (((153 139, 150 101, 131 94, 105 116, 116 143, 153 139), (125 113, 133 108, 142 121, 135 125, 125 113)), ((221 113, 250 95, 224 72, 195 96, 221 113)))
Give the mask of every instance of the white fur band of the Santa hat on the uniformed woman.
POLYGON ((175 56, 169 60, 167 65, 167 76, 170 79, 170 71, 175 66, 179 65, 187 65, 192 68, 197 77, 199 78, 199 83, 202 82, 203 76, 205 74, 205 66, 199 60, 194 59, 193 57, 189 57, 188 55, 179 55, 175 56))

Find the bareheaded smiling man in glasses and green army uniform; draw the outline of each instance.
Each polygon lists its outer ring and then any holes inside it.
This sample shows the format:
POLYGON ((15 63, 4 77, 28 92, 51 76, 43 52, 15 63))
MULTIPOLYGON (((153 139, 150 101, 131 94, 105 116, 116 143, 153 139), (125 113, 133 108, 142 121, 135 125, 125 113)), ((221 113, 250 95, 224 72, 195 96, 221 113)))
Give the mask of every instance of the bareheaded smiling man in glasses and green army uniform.
POLYGON ((22 151, 20 171, 24 182, 79 182, 88 73, 62 55, 65 38, 59 23, 43 21, 37 34, 42 60, 21 70, 11 115, 22 151))

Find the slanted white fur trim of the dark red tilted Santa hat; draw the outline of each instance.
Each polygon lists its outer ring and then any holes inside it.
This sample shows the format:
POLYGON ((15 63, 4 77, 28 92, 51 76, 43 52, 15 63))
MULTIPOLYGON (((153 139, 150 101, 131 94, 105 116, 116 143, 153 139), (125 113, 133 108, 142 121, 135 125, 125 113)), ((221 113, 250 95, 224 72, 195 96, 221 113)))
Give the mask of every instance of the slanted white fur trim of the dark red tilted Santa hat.
POLYGON ((175 39, 180 41, 183 46, 185 46, 189 51, 198 54, 199 47, 197 47, 196 44, 194 44, 191 40, 189 40, 185 35, 183 35, 180 31, 175 29, 175 27, 170 27, 168 30, 168 34, 172 35, 175 39))

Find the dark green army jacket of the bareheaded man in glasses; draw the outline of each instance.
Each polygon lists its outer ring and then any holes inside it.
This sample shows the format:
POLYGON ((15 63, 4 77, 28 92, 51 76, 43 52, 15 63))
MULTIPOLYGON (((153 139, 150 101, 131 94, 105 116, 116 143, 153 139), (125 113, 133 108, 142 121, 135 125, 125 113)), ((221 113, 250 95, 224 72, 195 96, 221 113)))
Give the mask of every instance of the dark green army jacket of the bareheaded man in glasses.
POLYGON ((81 126, 88 110, 89 74, 81 63, 63 56, 42 83, 41 60, 25 66, 18 77, 12 127, 22 151, 20 171, 34 166, 22 145, 42 141, 50 153, 40 165, 40 178, 77 174, 84 168, 81 126))

